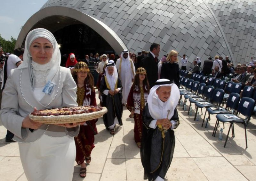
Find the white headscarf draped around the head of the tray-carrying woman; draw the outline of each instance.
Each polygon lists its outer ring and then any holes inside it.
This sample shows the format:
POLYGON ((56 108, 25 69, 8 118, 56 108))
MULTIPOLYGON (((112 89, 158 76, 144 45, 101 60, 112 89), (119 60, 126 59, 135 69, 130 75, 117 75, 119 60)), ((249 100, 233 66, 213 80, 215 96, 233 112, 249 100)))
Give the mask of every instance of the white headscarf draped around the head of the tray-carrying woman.
POLYGON ((61 60, 60 49, 58 47, 58 43, 51 32, 49 32, 48 30, 46 30, 44 28, 37 28, 28 33, 26 41, 25 41, 23 62, 20 64, 20 66, 17 69, 28 68, 30 82, 31 82, 31 86, 32 86, 33 90, 34 90, 34 86, 35 86, 35 83, 34 83, 35 80, 34 80, 34 75, 33 75, 32 67, 31 67, 32 57, 29 52, 29 47, 32 44, 32 42, 34 40, 36 40, 37 38, 46 38, 47 40, 49 40, 51 42, 52 47, 53 47, 53 54, 52 54, 52 60, 51 60, 53 66, 50 69, 49 74, 46 76, 46 80, 52 80, 52 78, 55 76, 55 74, 57 72, 59 72, 60 60, 61 60))

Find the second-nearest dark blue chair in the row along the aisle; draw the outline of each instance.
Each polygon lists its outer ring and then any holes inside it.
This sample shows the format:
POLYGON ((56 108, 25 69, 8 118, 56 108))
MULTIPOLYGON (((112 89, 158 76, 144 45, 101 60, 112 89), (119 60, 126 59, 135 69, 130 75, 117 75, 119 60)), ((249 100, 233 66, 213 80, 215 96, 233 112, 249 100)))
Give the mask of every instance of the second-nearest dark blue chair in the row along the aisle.
MULTIPOLYGON (((239 94, 231 93, 228 97, 225 109, 223 107, 208 107, 206 109, 206 111, 208 112, 208 121, 211 120, 211 117, 210 117, 211 114, 229 113, 228 109, 236 111, 239 100, 240 100, 239 97, 240 97, 239 94)), ((231 113, 234 113, 234 112, 231 112, 231 113)), ((206 125, 207 125, 208 121, 206 122, 206 125)), ((205 127, 206 127, 206 125, 205 125, 205 127)), ((202 124, 202 126, 203 126, 203 124, 202 124)), ((224 124, 223 124, 223 126, 224 126, 224 124)))

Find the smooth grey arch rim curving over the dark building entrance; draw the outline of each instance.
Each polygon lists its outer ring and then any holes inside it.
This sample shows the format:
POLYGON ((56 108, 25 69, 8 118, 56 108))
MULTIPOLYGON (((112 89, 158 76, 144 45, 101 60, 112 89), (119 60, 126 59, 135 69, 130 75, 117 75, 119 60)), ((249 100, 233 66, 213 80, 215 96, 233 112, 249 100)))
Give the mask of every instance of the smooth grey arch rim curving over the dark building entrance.
POLYGON ((87 14, 84 14, 83 12, 80 12, 68 7, 62 7, 62 6, 46 7, 44 9, 39 10, 32 17, 30 17, 20 31, 15 48, 20 47, 22 45, 22 42, 25 40, 28 32, 38 22, 52 16, 66 16, 69 18, 73 18, 77 21, 80 21, 81 23, 89 26, 98 34, 100 34, 100 36, 104 38, 108 42, 108 44, 118 54, 122 52, 124 49, 127 49, 124 42, 119 38, 119 36, 117 36, 117 34, 113 30, 111 30, 107 25, 105 25, 103 22, 87 14))

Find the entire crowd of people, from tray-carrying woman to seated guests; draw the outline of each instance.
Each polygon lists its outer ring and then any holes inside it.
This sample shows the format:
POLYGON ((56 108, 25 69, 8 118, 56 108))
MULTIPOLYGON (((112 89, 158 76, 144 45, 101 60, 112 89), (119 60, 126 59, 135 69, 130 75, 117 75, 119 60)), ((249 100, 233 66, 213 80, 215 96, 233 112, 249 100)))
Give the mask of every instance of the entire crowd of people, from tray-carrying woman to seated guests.
MULTIPOLYGON (((77 60, 70 53, 63 63, 51 32, 43 28, 30 31, 25 47, 16 49, 0 67, 0 119, 8 129, 6 141, 19 144, 28 180, 72 180, 74 161, 81 167, 80 177, 86 177, 98 119, 48 125, 34 122, 28 115, 37 109, 97 105, 96 90, 100 105, 108 108, 103 116, 106 130, 114 135, 116 127, 123 125, 125 106, 134 119, 144 179, 164 180, 174 152, 173 130, 180 123, 176 109, 180 75, 178 52, 172 50, 159 60, 160 51, 160 45, 153 43, 149 52, 143 50, 138 56, 124 50, 120 56, 90 53, 77 60), (51 92, 45 91, 49 84, 53 85, 51 92)), ((234 82, 255 87, 255 62, 234 68, 228 57, 215 56, 214 61, 204 61, 202 73, 215 78, 232 73, 234 82)), ((184 54, 181 69, 186 70, 187 64, 184 54)), ((200 57, 193 64, 190 74, 200 73, 200 57)))

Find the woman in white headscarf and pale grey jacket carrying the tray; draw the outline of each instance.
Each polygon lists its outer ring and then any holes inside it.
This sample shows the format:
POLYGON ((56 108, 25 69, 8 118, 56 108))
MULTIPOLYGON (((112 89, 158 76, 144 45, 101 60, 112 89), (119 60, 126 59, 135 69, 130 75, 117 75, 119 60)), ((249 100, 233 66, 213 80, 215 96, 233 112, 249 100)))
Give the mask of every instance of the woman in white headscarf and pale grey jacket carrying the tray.
POLYGON ((28 180, 65 180, 73 177, 78 124, 47 125, 28 114, 39 109, 73 107, 76 83, 70 70, 60 67, 60 50, 51 32, 38 28, 25 41, 23 63, 13 69, 3 91, 0 118, 19 143, 28 180), (52 91, 45 88, 52 86, 52 91))

